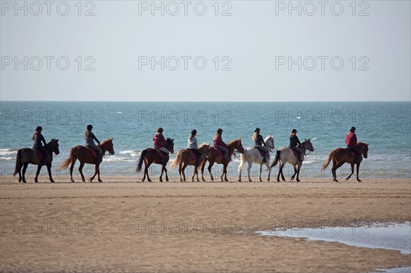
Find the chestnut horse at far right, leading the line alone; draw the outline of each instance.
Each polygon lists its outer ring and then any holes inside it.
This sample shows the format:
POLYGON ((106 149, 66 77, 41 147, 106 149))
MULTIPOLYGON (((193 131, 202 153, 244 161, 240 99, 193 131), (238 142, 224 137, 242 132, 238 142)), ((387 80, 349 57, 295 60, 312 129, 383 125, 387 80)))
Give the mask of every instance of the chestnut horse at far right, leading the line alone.
POLYGON ((351 155, 351 151, 349 151, 349 148, 336 148, 334 151, 329 153, 327 161, 325 161, 322 170, 325 170, 327 166, 329 165, 329 162, 332 160, 332 181, 338 182, 337 180, 337 174, 336 170, 343 166, 345 163, 351 164, 351 174, 345 179, 348 181, 348 179, 351 178, 351 175, 354 173, 354 164, 357 165, 357 181, 361 182, 361 180, 358 178, 358 171, 360 170, 360 164, 362 161, 362 157, 366 158, 368 157, 368 143, 363 143, 363 142, 358 142, 357 143, 357 148, 361 151, 361 155, 358 158, 357 162, 354 162, 356 159, 356 155, 351 155))

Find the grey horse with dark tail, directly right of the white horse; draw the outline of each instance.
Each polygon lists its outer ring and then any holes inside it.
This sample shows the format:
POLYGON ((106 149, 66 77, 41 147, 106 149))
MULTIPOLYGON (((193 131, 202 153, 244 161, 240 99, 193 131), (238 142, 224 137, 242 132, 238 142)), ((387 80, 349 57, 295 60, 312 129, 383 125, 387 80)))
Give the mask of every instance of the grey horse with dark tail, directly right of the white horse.
POLYGON ((286 181, 284 178, 284 174, 282 172, 282 169, 284 168, 284 165, 286 163, 292 164, 292 167, 294 167, 294 174, 292 174, 291 181, 294 180, 295 174, 297 174, 297 179, 296 181, 299 182, 299 171, 301 169, 301 165, 303 164, 304 159, 306 158, 306 151, 313 152, 314 147, 312 146, 312 143, 310 142, 310 139, 306 139, 299 145, 299 148, 301 149, 301 161, 297 161, 297 157, 294 155, 293 151, 291 148, 279 148, 277 150, 277 153, 275 154, 275 159, 273 163, 271 164, 270 168, 273 168, 275 165, 277 165, 279 161, 279 171, 277 175, 277 182, 279 182, 279 174, 281 174, 282 181, 286 181), (298 168, 296 168, 296 166, 298 168))

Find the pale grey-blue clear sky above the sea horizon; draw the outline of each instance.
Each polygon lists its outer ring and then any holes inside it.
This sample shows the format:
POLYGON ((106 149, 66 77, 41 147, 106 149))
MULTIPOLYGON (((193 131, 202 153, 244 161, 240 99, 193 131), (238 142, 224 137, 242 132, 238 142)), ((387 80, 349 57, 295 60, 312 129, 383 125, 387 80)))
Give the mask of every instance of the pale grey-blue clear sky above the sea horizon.
POLYGON ((1 1, 1 101, 411 101, 410 1, 1 1))

